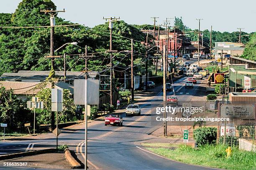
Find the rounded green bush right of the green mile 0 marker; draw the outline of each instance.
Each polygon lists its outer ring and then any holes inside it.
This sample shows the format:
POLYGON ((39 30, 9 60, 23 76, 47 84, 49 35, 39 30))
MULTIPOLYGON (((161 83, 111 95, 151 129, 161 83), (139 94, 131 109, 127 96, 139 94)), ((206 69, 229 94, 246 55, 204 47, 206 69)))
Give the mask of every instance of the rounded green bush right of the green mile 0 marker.
POLYGON ((193 130, 193 138, 197 145, 215 144, 217 139, 217 128, 202 127, 193 130))

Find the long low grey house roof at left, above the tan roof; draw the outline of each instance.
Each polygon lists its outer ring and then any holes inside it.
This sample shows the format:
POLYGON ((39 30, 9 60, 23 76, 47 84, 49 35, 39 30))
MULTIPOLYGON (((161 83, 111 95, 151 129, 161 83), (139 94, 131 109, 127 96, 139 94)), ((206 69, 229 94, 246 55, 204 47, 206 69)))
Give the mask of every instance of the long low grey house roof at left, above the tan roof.
MULTIPOLYGON (((50 71, 28 71, 28 70, 20 70, 18 72, 5 72, 0 78, 13 79, 13 78, 29 78, 29 79, 46 79, 49 76, 50 71)), ((55 71, 55 74, 58 76, 64 76, 64 71, 55 71)), ((95 76, 98 72, 92 71, 89 72, 89 76, 95 76)), ((84 79, 86 73, 80 71, 67 71, 66 78, 67 79, 84 79)))

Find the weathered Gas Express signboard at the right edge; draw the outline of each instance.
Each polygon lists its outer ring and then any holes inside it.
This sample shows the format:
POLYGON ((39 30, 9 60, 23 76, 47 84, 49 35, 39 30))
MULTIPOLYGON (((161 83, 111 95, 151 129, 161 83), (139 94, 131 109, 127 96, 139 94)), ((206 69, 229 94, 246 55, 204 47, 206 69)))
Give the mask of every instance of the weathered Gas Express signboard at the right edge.
POLYGON ((254 105, 250 104, 223 104, 220 106, 220 116, 240 119, 254 119, 254 105))

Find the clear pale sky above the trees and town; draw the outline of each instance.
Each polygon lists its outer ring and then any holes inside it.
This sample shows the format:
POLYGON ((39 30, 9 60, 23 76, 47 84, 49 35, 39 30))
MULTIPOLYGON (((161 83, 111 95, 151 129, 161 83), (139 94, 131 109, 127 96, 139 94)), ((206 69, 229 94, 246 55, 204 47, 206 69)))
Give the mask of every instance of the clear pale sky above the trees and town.
MULTIPOLYGON (((22 0, 1 0, 0 13, 14 13, 22 0)), ((105 22, 102 18, 120 17, 128 24, 154 24, 151 17, 159 17, 158 24, 166 18, 182 17, 184 25, 200 30, 256 32, 256 0, 52 0, 58 16, 73 23, 94 27, 105 22)), ((173 23, 173 19, 170 19, 173 23)))

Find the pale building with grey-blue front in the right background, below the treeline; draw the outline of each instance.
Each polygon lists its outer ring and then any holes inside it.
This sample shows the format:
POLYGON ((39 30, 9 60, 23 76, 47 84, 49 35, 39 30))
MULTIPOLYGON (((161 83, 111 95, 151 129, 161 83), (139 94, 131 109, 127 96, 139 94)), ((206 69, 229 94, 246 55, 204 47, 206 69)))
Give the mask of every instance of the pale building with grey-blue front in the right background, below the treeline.
POLYGON ((243 54, 245 45, 241 42, 215 42, 215 59, 221 55, 240 56, 243 54))

